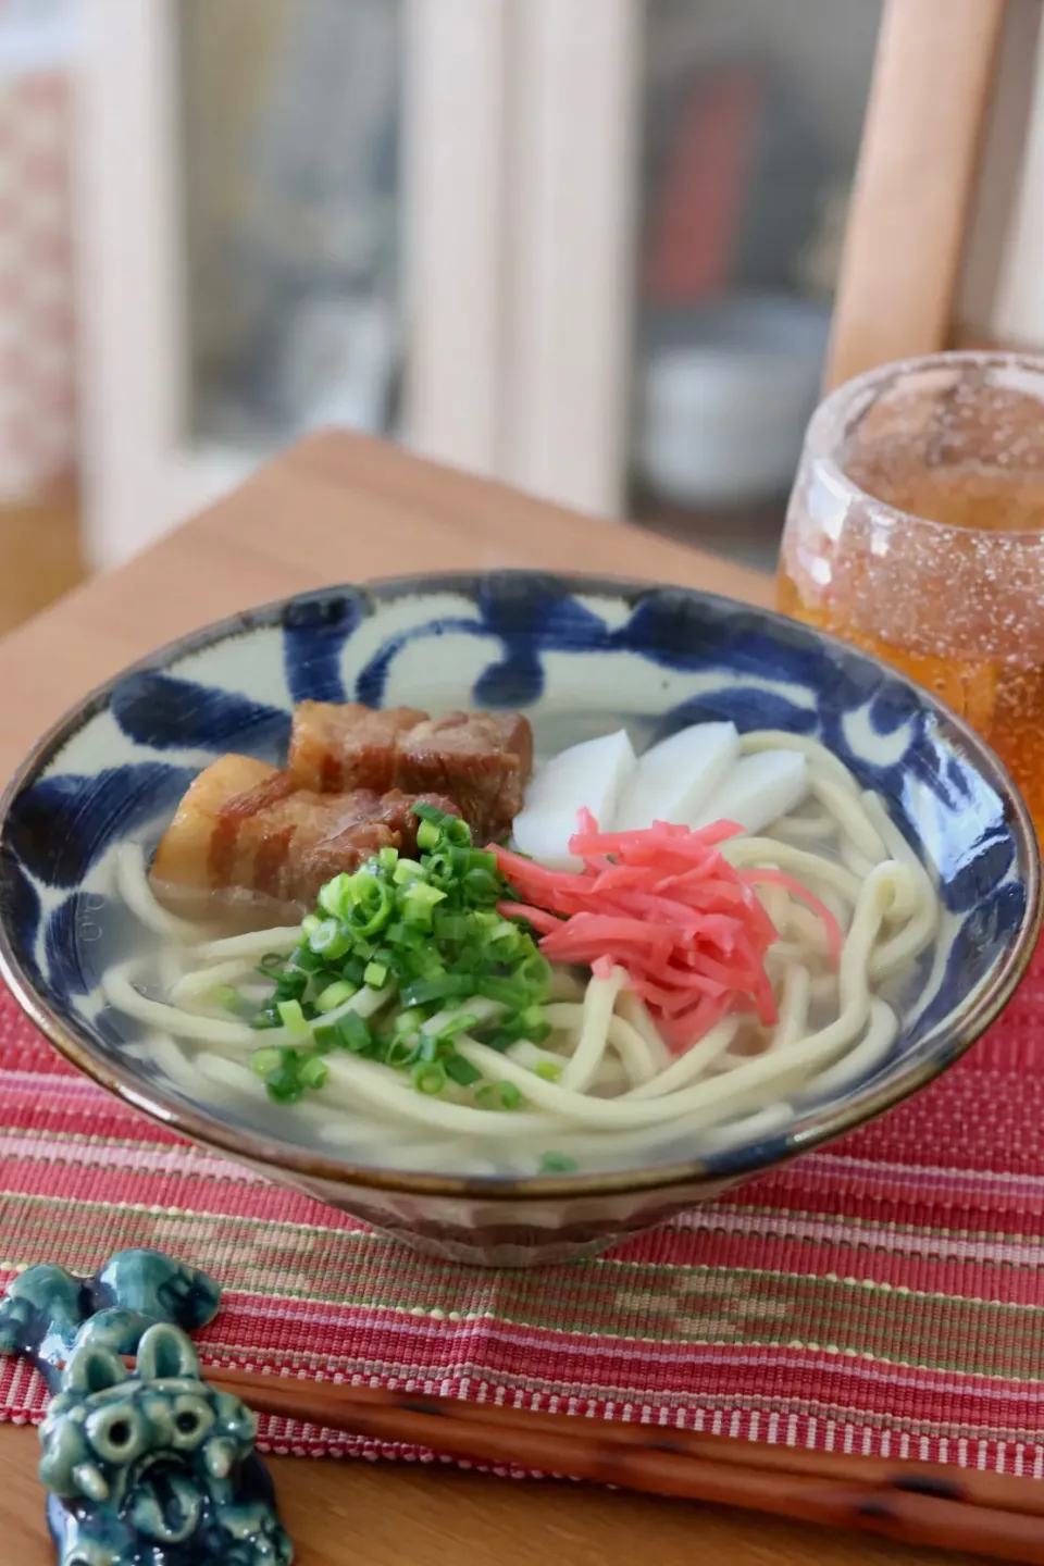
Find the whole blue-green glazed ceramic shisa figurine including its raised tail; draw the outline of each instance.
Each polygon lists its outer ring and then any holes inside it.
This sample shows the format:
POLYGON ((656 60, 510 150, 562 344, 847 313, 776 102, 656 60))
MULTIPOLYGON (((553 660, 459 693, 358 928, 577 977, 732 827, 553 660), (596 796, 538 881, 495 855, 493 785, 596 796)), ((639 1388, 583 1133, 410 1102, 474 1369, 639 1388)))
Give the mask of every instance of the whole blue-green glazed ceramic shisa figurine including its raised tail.
POLYGON ((94 1278, 44 1264, 9 1284, 0 1350, 55 1394, 39 1475, 59 1566, 290 1566, 257 1419, 207 1386, 188 1337, 218 1301, 207 1273, 146 1250, 94 1278))

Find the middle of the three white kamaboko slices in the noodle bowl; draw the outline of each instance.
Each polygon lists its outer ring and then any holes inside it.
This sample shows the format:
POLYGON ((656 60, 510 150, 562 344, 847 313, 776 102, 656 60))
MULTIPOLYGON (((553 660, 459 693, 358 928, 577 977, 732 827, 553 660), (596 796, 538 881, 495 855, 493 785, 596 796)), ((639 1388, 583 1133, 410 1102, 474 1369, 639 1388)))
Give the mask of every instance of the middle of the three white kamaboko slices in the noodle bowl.
POLYGON ((639 832, 654 821, 692 827, 739 761, 736 723, 693 723, 653 745, 620 794, 617 832, 639 832))

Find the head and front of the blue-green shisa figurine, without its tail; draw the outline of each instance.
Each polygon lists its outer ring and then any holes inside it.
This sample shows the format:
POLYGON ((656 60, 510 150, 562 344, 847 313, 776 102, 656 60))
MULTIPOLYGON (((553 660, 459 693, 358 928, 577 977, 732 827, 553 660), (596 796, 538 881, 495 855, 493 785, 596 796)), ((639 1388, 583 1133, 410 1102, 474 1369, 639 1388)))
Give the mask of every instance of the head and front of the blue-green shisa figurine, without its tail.
POLYGON ((133 1373, 111 1348, 75 1348, 41 1427, 61 1566, 288 1566, 255 1428, 175 1326, 144 1333, 133 1373))

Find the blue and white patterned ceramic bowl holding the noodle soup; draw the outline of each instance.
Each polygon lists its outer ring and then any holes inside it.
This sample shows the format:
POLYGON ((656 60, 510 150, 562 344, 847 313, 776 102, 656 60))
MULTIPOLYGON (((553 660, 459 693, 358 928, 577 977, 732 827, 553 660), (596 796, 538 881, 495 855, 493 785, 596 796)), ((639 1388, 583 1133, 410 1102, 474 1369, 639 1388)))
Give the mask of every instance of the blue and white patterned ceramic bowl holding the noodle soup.
POLYGON ((174 642, 85 697, 0 806, 0 969, 77 1066, 147 1113, 412 1243, 460 1261, 557 1261, 659 1223, 881 1113, 997 1016, 1041 921, 1036 838, 1006 772, 959 719, 841 642, 706 594, 535 572, 330 587, 174 642), (520 708, 538 750, 626 723, 635 741, 703 719, 823 741, 938 880, 944 919, 917 998, 866 1081, 753 1145, 640 1171, 446 1178, 354 1165, 207 1102, 125 1052, 103 960, 127 915, 111 860, 167 819, 216 755, 285 755, 311 697, 430 711, 520 708))

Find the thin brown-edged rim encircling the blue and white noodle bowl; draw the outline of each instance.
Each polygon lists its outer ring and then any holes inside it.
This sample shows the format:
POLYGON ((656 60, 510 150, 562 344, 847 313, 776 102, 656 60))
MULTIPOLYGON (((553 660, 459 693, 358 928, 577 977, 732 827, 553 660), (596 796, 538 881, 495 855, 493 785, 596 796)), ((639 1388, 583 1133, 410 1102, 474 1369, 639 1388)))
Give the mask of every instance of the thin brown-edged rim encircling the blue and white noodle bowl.
MULTIPOLYGON (((1036 949, 1041 922, 1044 919, 1044 896, 1041 877, 1041 853, 1036 830, 1028 808, 1019 792, 1011 774, 981 739, 972 727, 933 692, 919 686, 902 670, 855 647, 828 631, 820 631, 801 620, 783 614, 778 609, 767 609, 740 598, 729 598, 725 594, 704 592, 700 587, 687 587, 676 583, 645 581, 632 576, 614 576, 609 573, 587 575, 578 572, 540 570, 537 567, 502 567, 488 572, 429 572, 424 575, 380 576, 362 583, 332 583, 324 587, 305 589, 299 594, 288 594, 266 603, 236 611, 219 620, 186 631, 183 636, 164 642, 146 656, 124 666, 108 680, 100 681, 85 697, 69 706, 63 716, 52 723, 45 733, 30 749, 20 766, 13 774, 9 783, 0 794, 0 850, 6 844, 8 817, 14 800, 22 789, 33 783, 55 755, 91 722, 99 711, 108 706, 113 689, 130 675, 149 670, 166 669, 177 658, 185 658, 203 647, 229 640, 235 636, 247 634, 257 628, 274 625, 285 612, 286 606, 305 601, 322 601, 340 597, 363 597, 380 603, 410 595, 434 595, 438 592, 470 590, 490 579, 529 578, 538 579, 570 597, 625 597, 640 600, 651 592, 673 592, 681 597, 697 600, 726 614, 751 614, 770 626, 787 634, 806 636, 817 645, 833 648, 845 658, 878 669, 881 673, 911 687, 928 708, 938 713, 952 730, 952 736, 967 752, 975 766, 989 778, 992 786, 1005 800, 1005 816, 1016 841, 1022 841, 1028 850, 1025 875, 1025 910, 1011 946, 1003 954, 995 969, 983 979, 970 993, 964 1004, 964 1012, 953 1021, 952 1045, 945 1052, 939 1052, 911 1066, 909 1071, 886 1079, 877 1088, 856 1095, 845 1104, 826 1106, 817 1112, 814 1124, 801 1131, 779 1131, 773 1138, 759 1138, 747 1148, 737 1148, 728 1154, 728 1164, 722 1168, 711 1168, 703 1159, 684 1159, 675 1164, 657 1165, 650 1170, 618 1170, 596 1174, 534 1174, 504 1179, 499 1176, 454 1176, 435 1173, 413 1173, 369 1168, 352 1165, 340 1159, 311 1153, 305 1148, 294 1148, 291 1143, 272 1142, 261 1132, 235 1129, 211 1120, 202 1110, 180 1102, 164 1101, 164 1095, 153 1096, 144 1087, 125 1081, 114 1066, 97 1057, 95 1043, 88 1027, 61 1018, 55 1009, 39 994, 31 974, 20 962, 14 941, 8 929, 8 919, 0 907, 0 980, 3 980, 14 996, 17 1005, 44 1037, 69 1060, 70 1065, 83 1071, 95 1084, 113 1093, 116 1098, 141 1110, 150 1120, 158 1121, 177 1135, 189 1142, 214 1148, 224 1156, 244 1162, 250 1167, 266 1167, 269 1170, 301 1176, 304 1179, 324 1181, 327 1184, 349 1189, 388 1192, 404 1196, 430 1196, 484 1201, 490 1206, 506 1203, 535 1201, 546 1203, 559 1198, 595 1198, 614 1195, 637 1195, 654 1190, 682 1190, 698 1184, 717 1184, 750 1178, 778 1168, 789 1159, 801 1153, 819 1148, 848 1131, 856 1129, 887 1109, 903 1102, 919 1088, 942 1076, 955 1065, 974 1043, 981 1038, 986 1029, 995 1021, 1000 1012, 1017 990, 1036 949), (775 1156, 767 1159, 758 1156, 772 1145, 775 1156), (778 1151, 776 1151, 778 1149, 778 1151)), ((3 861, 0 858, 0 889, 3 877, 3 861)), ((315 1193, 313 1193, 315 1195, 315 1193)))

